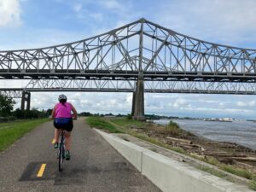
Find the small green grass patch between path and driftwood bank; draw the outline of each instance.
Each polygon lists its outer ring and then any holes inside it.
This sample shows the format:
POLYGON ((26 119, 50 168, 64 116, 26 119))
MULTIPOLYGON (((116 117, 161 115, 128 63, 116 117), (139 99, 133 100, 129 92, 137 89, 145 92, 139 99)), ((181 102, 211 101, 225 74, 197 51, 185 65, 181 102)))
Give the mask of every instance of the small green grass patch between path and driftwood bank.
POLYGON ((122 133, 114 125, 111 125, 106 119, 100 117, 88 117, 86 122, 91 128, 95 127, 102 130, 108 130, 111 133, 122 133))

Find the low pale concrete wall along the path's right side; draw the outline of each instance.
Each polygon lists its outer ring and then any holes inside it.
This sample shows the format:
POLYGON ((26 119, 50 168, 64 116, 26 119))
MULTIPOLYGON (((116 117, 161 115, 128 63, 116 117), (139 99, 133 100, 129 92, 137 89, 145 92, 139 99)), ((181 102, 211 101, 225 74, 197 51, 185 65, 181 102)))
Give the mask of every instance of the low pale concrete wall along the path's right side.
POLYGON ((139 172, 164 192, 253 192, 245 186, 227 182, 119 137, 98 132, 139 172))

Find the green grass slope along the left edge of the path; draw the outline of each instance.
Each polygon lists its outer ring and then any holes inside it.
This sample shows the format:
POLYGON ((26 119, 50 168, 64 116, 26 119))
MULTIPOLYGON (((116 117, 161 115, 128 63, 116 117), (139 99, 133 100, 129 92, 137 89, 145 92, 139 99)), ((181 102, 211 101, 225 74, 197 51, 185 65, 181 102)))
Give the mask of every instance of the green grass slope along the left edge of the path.
POLYGON ((17 139, 49 119, 21 120, 0 123, 0 152, 8 148, 17 139))

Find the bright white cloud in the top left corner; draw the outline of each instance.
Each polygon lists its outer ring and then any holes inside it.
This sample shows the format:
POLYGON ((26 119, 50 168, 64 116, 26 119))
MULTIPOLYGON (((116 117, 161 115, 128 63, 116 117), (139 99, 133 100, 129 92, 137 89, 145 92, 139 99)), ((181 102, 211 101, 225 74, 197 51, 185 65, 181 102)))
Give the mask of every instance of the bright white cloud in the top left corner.
POLYGON ((0 0, 0 27, 20 26, 21 9, 19 0, 0 0))

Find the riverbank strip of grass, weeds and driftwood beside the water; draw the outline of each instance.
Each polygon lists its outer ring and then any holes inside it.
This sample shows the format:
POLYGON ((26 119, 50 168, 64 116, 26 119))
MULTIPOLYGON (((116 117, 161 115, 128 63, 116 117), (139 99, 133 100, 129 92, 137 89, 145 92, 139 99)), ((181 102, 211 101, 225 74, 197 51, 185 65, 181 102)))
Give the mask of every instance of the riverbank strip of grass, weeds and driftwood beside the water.
POLYGON ((109 133, 126 133, 160 147, 189 155, 213 166, 218 166, 220 171, 207 166, 196 167, 235 183, 236 181, 224 172, 245 177, 248 179, 248 187, 256 190, 256 161, 253 161, 256 160, 254 159, 256 152, 249 148, 236 145, 236 143, 220 143, 197 137, 189 131, 184 131, 172 121, 166 126, 129 118, 91 116, 86 118, 86 121, 90 127, 99 128, 109 133), (252 161, 245 161, 247 160, 247 154, 253 156, 251 159, 248 159, 252 161))

